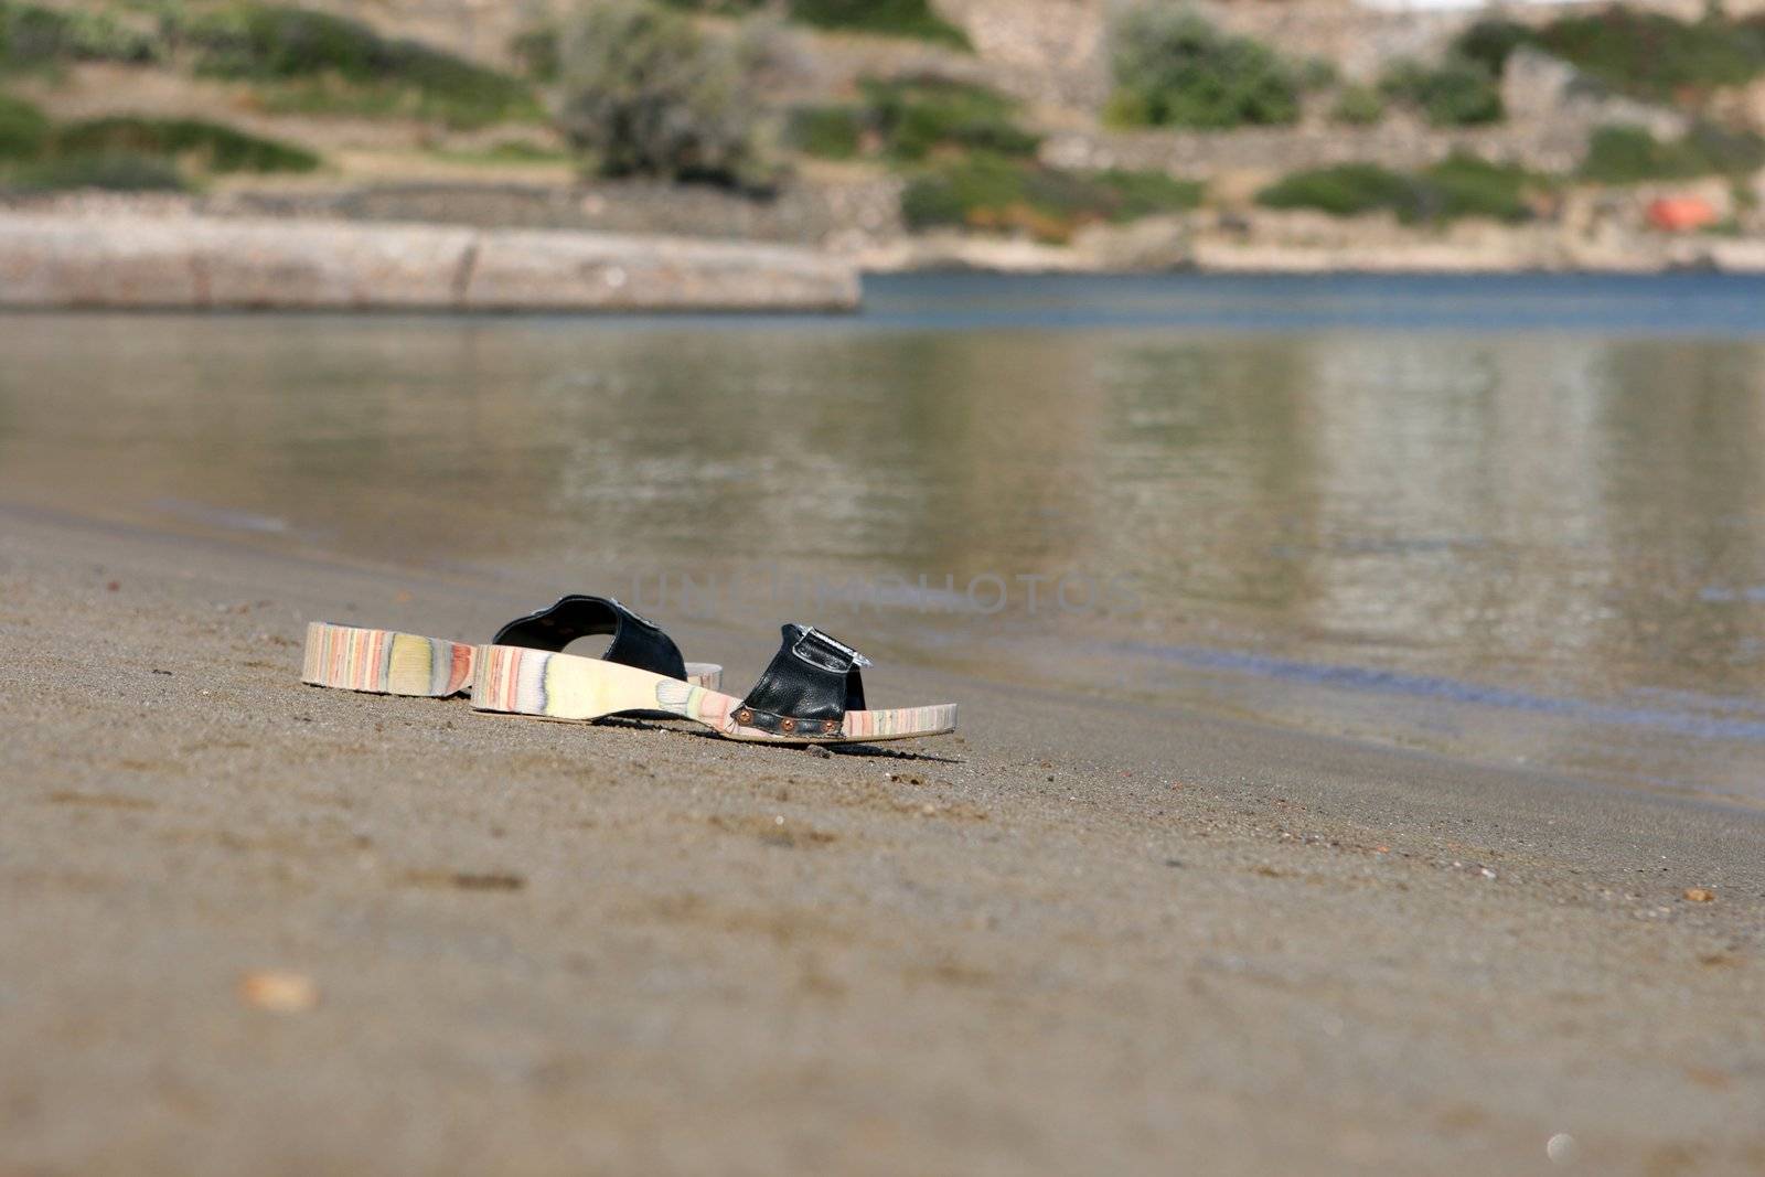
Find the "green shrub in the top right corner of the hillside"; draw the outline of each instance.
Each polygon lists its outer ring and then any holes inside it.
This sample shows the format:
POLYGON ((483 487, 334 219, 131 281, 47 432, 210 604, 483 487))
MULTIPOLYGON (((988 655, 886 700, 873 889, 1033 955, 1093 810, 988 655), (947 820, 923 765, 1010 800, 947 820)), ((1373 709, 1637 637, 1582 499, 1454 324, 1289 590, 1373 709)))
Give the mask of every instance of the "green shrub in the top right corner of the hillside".
POLYGON ((1622 94, 1668 102, 1765 72, 1765 25, 1710 16, 1696 23, 1611 7, 1564 16, 1537 42, 1622 94))

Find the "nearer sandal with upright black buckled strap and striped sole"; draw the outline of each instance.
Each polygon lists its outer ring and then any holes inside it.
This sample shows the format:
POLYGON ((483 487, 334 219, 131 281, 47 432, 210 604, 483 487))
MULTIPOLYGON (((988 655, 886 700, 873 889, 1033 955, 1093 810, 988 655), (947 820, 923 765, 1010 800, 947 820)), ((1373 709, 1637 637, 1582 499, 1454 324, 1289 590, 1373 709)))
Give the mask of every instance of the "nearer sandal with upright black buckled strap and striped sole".
POLYGON ((471 706, 552 720, 669 711, 718 736, 757 743, 875 743, 957 729, 957 706, 865 709, 858 674, 870 660, 803 625, 784 642, 747 699, 639 667, 508 644, 480 646, 471 706))

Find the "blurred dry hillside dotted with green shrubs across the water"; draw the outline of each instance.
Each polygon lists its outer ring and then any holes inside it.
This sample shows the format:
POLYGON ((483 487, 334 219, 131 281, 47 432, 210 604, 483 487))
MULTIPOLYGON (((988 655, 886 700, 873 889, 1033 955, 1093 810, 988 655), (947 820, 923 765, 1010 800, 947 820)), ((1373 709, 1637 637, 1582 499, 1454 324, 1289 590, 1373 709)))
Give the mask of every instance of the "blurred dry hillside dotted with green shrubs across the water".
POLYGON ((0 0, 0 185, 881 268, 1751 268, 1765 5, 1686 9, 672 0, 741 127, 671 159, 597 141, 574 9, 0 0))

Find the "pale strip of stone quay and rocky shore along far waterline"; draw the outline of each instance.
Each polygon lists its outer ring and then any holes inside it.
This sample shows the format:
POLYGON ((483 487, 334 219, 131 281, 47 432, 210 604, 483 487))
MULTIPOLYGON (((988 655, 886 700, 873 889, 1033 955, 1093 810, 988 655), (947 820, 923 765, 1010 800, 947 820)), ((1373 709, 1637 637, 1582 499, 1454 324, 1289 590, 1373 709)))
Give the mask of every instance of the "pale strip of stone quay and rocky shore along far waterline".
POLYGON ((1765 238, 1634 226, 1419 228, 1258 210, 1085 226, 1064 245, 856 229, 775 240, 533 221, 522 208, 501 221, 494 203, 477 208, 462 192, 418 187, 404 203, 381 192, 390 203, 378 212, 261 194, 12 199, 0 203, 0 307, 844 314, 861 307, 863 275, 891 274, 1765 274, 1765 238), (431 196, 438 205, 424 203, 431 196), (420 215, 450 199, 457 215, 420 215), (508 228, 517 224, 537 228, 508 228))

